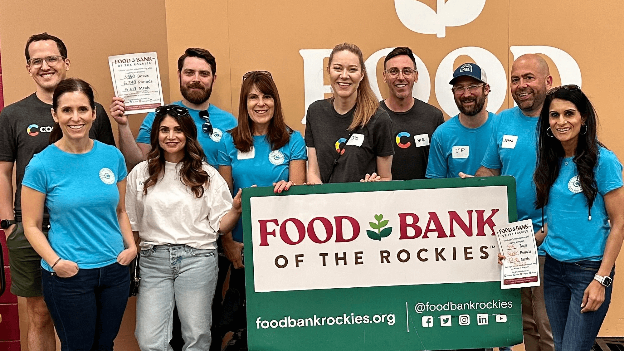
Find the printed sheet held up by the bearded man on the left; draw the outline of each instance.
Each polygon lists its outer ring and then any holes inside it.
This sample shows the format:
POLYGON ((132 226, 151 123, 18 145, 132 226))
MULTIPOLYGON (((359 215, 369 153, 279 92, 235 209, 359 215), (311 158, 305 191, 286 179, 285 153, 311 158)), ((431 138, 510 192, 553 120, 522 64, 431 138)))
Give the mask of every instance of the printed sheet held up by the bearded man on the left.
POLYGON ((163 104, 156 52, 109 56, 115 96, 125 99, 125 114, 154 112, 163 104))

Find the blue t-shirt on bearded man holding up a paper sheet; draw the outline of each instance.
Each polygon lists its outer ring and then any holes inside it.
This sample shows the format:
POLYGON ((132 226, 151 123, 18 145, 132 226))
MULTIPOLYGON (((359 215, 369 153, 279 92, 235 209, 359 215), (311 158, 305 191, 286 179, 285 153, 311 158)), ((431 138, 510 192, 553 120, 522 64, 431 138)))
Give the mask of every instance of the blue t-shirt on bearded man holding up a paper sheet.
MULTIPOLYGON (((210 124, 212 124, 212 134, 208 135, 202 131, 203 119, 199 117, 199 110, 190 109, 182 104, 182 101, 172 102, 174 105, 182 106, 188 109, 188 112, 195 121, 197 127, 197 141, 202 145, 203 152, 206 154, 206 162, 210 166, 217 167, 217 154, 219 152, 219 144, 221 142, 223 133, 229 131, 233 127, 236 127, 236 119, 230 112, 225 112, 222 109, 210 104, 208 107, 208 114, 210 115, 210 124)), ((145 116, 143 123, 139 129, 139 135, 137 136, 137 142, 144 144, 150 144, 150 133, 152 132, 152 124, 156 114, 150 112, 145 116)))

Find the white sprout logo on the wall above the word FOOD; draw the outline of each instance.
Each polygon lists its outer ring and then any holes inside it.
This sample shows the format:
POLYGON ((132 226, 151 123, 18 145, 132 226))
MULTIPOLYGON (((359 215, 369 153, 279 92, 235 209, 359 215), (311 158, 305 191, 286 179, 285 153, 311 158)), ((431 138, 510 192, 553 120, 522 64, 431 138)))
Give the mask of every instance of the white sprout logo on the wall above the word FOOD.
POLYGON ((485 0, 437 0, 437 12, 416 0, 394 0, 401 23, 410 31, 446 37, 446 27, 463 26, 474 21, 485 0))

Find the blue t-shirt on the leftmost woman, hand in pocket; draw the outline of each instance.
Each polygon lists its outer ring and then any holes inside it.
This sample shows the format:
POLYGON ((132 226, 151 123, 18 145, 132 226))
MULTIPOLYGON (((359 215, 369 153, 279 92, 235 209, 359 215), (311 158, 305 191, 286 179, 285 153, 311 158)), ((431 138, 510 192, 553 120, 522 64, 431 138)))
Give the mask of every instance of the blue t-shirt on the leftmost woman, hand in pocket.
MULTIPOLYGON (((99 141, 85 154, 70 154, 52 144, 32 157, 22 185, 46 194, 48 241, 59 257, 81 269, 117 261, 124 250, 117 182, 126 175, 121 152, 99 141)), ((52 271, 43 259, 41 267, 52 271)))

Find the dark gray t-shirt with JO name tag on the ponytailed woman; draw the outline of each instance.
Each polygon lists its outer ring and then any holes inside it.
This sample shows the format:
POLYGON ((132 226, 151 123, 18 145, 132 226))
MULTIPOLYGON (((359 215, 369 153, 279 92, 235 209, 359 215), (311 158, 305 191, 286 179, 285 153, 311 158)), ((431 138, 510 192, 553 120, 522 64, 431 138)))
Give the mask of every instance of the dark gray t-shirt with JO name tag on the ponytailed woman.
POLYGON ((315 101, 308 107, 306 146, 316 148, 316 159, 324 182, 359 182, 367 173, 377 172, 377 156, 394 154, 392 121, 381 108, 377 109, 366 127, 354 131, 352 142, 346 141, 355 109, 354 106, 346 114, 338 114, 332 99, 315 101), (328 181, 334 160, 338 158, 339 146, 343 146, 344 154, 339 157, 334 174, 328 181))

